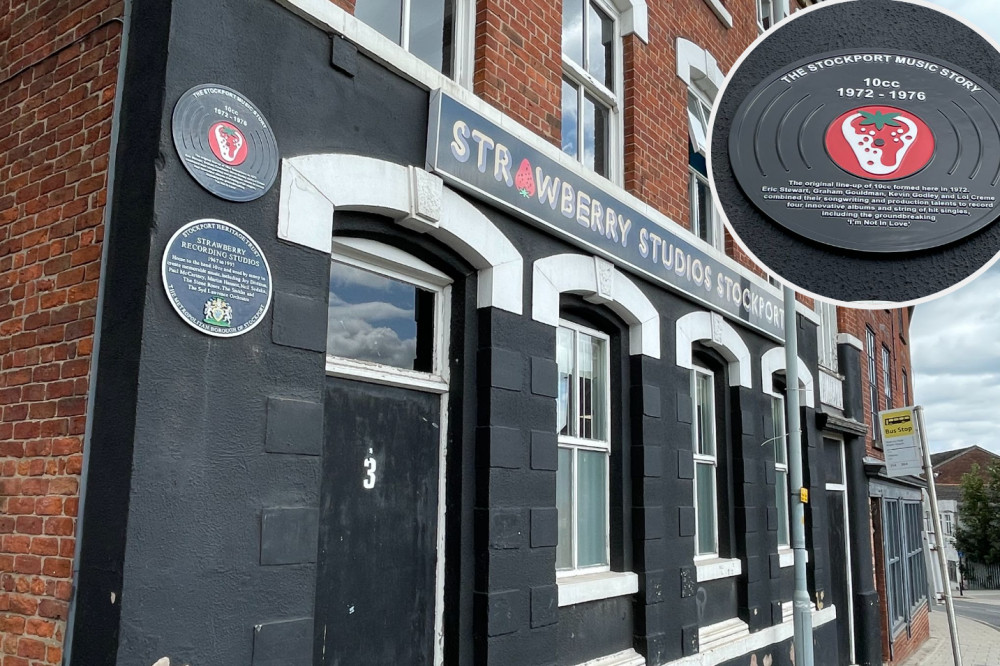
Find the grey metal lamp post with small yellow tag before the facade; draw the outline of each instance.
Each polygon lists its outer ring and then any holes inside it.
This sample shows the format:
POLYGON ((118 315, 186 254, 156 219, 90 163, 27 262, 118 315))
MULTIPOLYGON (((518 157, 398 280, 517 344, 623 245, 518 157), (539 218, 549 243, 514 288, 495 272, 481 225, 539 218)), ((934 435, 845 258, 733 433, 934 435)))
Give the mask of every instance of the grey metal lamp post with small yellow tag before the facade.
POLYGON ((785 380, 788 385, 788 473, 791 483, 792 552, 795 556, 795 591, 792 593, 792 626, 795 631, 795 664, 813 666, 812 601, 806 581, 806 502, 802 486, 802 425, 799 422, 799 341, 795 320, 795 292, 782 292, 785 311, 785 380))

